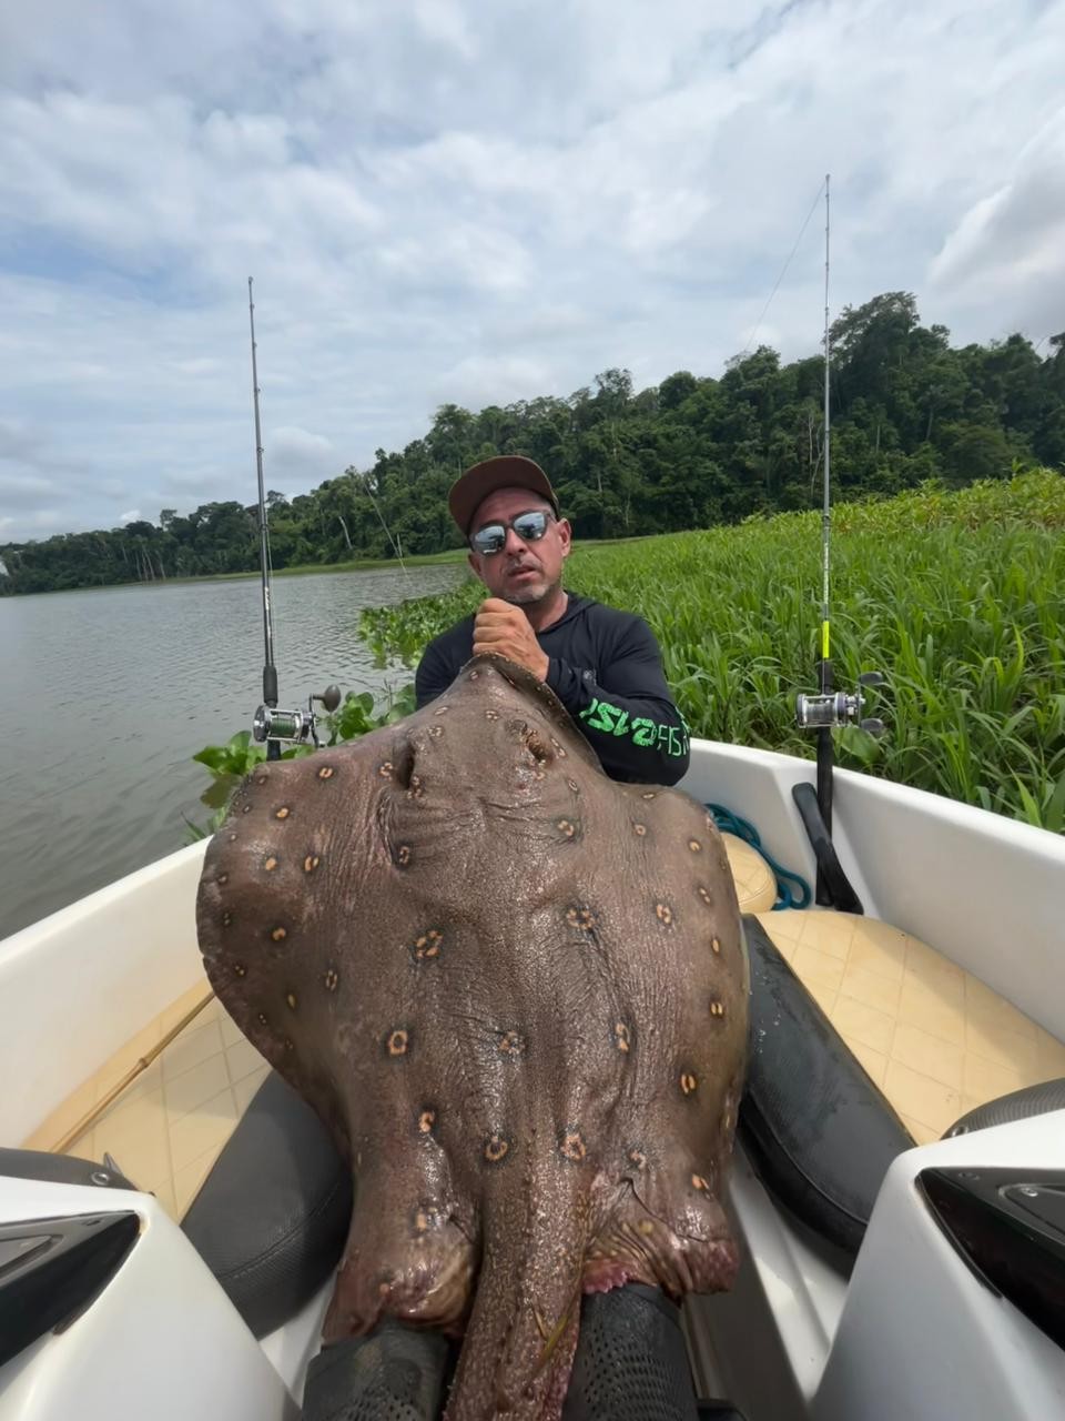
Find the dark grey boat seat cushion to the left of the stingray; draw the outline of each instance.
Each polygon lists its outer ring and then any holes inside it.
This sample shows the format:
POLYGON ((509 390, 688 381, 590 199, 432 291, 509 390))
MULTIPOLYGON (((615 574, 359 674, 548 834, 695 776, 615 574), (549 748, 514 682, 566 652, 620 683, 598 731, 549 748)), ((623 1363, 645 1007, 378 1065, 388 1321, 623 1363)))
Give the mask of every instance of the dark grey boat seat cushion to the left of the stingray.
POLYGON ((351 1205, 351 1174, 325 1125, 271 1071, 182 1229, 256 1337, 264 1337, 337 1268, 351 1205))

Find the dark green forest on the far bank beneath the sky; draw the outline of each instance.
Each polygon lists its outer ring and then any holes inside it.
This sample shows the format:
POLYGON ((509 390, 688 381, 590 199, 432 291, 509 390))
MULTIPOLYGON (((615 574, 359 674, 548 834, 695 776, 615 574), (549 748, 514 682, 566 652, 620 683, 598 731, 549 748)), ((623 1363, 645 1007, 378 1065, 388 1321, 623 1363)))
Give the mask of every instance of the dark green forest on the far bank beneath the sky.
MULTIPOLYGON (((939 480, 961 487, 1038 463, 1065 468, 1065 333, 951 347, 914 296, 845 307, 831 328, 835 502, 939 480), (1044 342, 1041 342, 1042 345, 1044 342)), ((809 509, 821 499, 824 355, 782 365, 765 345, 720 378, 677 371, 636 391, 608 369, 568 398, 474 414, 442 405, 402 452, 376 450, 291 500, 267 495, 274 568, 440 553, 460 544, 446 495, 493 453, 551 477, 578 539, 635 537, 809 509)), ((267 450, 268 460, 268 450, 267 450)), ((283 470, 271 469, 280 482, 283 470)), ((158 523, 0 546, 0 594, 253 571, 256 504, 162 509, 158 523)))

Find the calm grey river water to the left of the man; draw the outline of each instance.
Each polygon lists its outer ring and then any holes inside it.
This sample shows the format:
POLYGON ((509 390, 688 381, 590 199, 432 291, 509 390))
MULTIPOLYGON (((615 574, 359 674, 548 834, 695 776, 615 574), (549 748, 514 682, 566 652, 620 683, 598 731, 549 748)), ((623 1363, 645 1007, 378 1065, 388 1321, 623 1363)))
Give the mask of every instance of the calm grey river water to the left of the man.
MULTIPOLYGON (((378 691, 364 607, 454 585, 457 567, 274 583, 278 701, 378 691)), ((257 580, 0 598, 0 939, 189 841, 210 783, 190 759, 250 729, 263 689, 257 580)))

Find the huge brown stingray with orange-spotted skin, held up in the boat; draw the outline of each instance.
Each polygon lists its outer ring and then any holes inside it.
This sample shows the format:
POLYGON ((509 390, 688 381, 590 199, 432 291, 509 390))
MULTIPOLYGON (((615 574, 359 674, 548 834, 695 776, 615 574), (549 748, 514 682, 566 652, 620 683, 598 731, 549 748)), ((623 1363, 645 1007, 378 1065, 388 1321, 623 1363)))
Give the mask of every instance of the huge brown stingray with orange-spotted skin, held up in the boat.
POLYGON ((609 780, 480 657, 406 720, 261 764, 203 868, 207 975, 351 1161, 327 1340, 464 1336, 447 1417, 558 1417, 582 1292, 727 1287, 747 1036, 706 811, 609 780))

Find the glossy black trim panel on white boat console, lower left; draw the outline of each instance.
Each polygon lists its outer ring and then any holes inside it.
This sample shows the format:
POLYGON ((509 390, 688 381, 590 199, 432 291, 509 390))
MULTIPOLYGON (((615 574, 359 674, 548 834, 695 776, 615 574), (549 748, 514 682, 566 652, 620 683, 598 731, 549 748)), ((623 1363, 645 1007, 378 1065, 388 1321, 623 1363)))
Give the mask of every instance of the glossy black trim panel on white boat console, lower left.
POLYGON ((45 1333, 68 1327, 136 1243, 132 1212, 0 1223, 0 1367, 45 1333))

